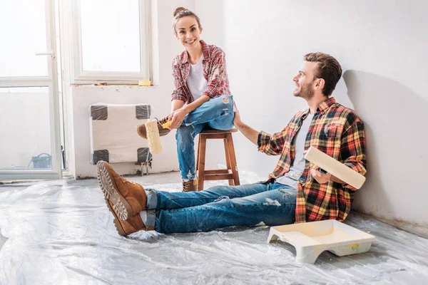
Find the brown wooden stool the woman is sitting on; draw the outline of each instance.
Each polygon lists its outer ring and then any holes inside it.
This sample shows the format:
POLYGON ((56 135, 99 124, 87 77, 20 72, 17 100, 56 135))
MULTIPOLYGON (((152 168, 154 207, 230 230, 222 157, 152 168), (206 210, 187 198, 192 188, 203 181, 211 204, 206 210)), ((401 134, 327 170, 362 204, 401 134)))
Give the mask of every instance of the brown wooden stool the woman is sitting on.
POLYGON ((199 134, 198 155, 196 159, 196 175, 198 176, 198 191, 203 190, 205 180, 229 180, 229 185, 240 185, 238 167, 236 166, 235 147, 233 147, 232 133, 238 130, 203 130, 199 134), (205 150, 208 139, 223 139, 225 142, 226 166, 225 170, 205 170, 205 150))

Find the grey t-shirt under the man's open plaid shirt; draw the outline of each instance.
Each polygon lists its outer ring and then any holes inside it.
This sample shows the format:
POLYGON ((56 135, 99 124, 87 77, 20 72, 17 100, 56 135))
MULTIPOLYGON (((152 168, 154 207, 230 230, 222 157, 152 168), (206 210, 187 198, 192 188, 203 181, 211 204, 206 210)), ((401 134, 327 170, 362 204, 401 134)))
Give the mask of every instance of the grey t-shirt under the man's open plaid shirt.
POLYGON ((302 122, 300 130, 295 135, 295 160, 292 162, 290 171, 278 177, 275 182, 297 189, 297 181, 299 181, 303 170, 305 170, 305 155, 303 151, 305 151, 306 135, 313 117, 314 114, 307 114, 307 117, 302 122))

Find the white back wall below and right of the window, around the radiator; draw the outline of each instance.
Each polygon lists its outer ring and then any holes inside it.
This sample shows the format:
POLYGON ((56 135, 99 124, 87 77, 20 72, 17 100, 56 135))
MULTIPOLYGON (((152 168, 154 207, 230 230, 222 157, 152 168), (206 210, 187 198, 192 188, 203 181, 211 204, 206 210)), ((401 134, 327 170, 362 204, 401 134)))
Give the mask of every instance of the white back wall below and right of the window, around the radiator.
MULTIPOLYGON (((153 62, 156 68, 154 88, 138 86, 78 86, 68 90, 68 138, 71 138, 69 149, 71 173, 76 177, 95 177, 95 166, 90 164, 91 150, 89 139, 89 105, 93 103, 148 103, 152 106, 152 118, 163 118, 170 113, 170 94, 173 90, 171 61, 183 50, 175 38, 172 29, 173 10, 177 6, 195 8, 194 0, 153 1, 158 2, 154 18, 155 30, 158 32, 154 49, 153 62)), ((66 66, 64 67, 66 68, 66 66)), ((153 172, 178 170, 175 147, 175 132, 162 138, 163 153, 153 157, 153 172)), ((114 135, 114 134, 112 134, 114 135)), ((135 173, 139 167, 133 163, 114 165, 120 174, 135 173)))

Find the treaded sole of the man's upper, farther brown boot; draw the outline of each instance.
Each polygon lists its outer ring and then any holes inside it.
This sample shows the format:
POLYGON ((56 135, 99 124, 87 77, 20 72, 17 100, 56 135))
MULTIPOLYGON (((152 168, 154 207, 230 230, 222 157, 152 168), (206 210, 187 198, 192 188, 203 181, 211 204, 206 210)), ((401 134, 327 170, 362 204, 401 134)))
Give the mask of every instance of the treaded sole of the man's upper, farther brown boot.
POLYGON ((133 216, 132 207, 126 201, 125 197, 121 195, 121 192, 117 189, 115 183, 113 182, 113 177, 111 177, 110 172, 108 172, 106 165, 103 161, 98 161, 96 164, 96 175, 98 179, 98 184, 103 191, 105 199, 110 201, 113 204, 113 209, 111 209, 110 204, 108 208, 115 212, 115 216, 123 221, 129 219, 133 216))

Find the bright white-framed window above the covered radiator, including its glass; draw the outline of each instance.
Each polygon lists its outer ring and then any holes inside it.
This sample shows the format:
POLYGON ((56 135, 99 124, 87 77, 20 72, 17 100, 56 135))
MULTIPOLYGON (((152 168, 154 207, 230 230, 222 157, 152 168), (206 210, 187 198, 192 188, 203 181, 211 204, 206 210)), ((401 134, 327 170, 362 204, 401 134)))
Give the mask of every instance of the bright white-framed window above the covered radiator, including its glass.
POLYGON ((73 3, 73 83, 149 80, 148 0, 73 3))

